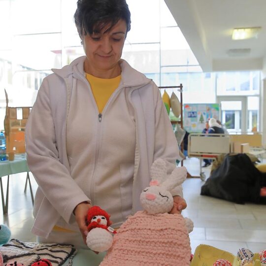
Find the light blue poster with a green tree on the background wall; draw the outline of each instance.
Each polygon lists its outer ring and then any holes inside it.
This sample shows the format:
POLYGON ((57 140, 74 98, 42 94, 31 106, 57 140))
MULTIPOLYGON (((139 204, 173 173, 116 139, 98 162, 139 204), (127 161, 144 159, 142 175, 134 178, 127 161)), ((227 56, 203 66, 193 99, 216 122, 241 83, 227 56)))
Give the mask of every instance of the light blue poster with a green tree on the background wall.
POLYGON ((205 123, 214 117, 219 120, 219 103, 184 104, 184 128, 188 132, 202 132, 205 123))

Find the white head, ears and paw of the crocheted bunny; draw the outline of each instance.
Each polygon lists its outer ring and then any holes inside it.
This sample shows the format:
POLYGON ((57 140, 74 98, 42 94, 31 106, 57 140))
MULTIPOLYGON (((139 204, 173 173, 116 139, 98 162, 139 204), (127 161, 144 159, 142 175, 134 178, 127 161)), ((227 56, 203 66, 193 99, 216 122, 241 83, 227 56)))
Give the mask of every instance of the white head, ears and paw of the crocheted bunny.
MULTIPOLYGON (((166 162, 162 159, 156 160, 151 167, 150 186, 140 194, 140 203, 149 214, 167 213, 173 207, 172 189, 181 185, 187 178, 185 167, 175 168, 167 178, 166 162)), ((188 232, 193 230, 193 222, 185 218, 188 232)))

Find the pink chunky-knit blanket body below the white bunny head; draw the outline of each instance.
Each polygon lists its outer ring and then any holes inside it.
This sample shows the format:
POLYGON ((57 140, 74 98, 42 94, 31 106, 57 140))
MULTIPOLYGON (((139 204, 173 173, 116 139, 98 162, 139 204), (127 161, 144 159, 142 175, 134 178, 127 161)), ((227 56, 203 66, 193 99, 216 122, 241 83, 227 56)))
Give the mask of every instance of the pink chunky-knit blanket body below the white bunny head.
POLYGON ((100 266, 189 266, 190 256, 181 214, 138 211, 118 229, 100 266))

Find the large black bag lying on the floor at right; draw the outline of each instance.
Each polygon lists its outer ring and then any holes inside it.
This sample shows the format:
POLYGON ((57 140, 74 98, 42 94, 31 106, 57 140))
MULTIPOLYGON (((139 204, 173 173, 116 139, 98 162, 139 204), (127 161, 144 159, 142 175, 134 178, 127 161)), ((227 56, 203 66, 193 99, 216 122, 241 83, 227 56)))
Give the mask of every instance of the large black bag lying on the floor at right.
POLYGON ((260 197, 263 186, 266 186, 266 173, 260 172, 246 154, 239 153, 225 157, 221 166, 212 172, 201 187, 200 195, 238 204, 266 204, 266 197, 260 197))

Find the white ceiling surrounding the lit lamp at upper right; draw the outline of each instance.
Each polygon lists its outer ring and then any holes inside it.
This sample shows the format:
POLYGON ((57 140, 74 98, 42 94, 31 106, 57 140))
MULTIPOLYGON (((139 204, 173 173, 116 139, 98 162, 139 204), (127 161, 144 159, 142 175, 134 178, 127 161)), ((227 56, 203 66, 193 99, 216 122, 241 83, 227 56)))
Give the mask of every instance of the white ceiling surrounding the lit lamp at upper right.
POLYGON ((203 71, 266 69, 266 0, 165 0, 203 71), (233 28, 262 27, 232 40, 233 28), (250 49, 229 55, 229 49, 250 49))

